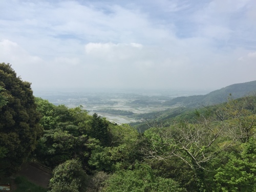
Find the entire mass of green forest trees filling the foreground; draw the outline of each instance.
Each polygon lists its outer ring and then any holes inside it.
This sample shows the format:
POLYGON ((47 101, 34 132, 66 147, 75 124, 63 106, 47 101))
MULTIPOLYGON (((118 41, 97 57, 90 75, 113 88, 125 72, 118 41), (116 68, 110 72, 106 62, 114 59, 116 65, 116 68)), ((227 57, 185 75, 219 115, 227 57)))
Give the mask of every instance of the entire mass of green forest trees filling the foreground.
POLYGON ((147 121, 139 133, 34 98, 5 63, 0 83, 0 177, 30 157, 53 168, 50 192, 256 191, 255 96, 147 121))

